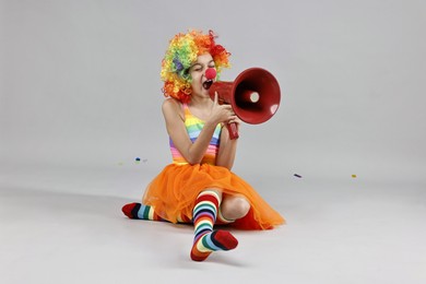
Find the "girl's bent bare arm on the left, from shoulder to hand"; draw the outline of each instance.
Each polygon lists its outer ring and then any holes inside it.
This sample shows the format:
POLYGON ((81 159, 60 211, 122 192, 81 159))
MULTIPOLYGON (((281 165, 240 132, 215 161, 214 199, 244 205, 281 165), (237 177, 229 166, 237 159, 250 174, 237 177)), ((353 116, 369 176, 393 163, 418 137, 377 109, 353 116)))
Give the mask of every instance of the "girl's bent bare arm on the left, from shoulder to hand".
POLYGON ((217 123, 234 118, 230 107, 221 106, 215 100, 210 118, 205 121, 196 142, 192 143, 185 127, 180 104, 175 99, 166 99, 162 109, 170 139, 184 158, 191 165, 201 163, 217 123))

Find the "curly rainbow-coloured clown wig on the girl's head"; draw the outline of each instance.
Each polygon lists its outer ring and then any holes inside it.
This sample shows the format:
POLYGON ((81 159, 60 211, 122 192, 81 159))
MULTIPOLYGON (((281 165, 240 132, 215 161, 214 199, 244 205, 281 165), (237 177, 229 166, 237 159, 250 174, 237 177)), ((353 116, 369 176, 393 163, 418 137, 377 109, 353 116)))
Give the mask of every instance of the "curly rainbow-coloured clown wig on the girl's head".
POLYGON ((216 37, 213 31, 209 31, 206 35, 201 31, 189 31, 171 38, 162 61, 161 72, 164 81, 163 93, 166 97, 189 103, 192 92, 189 68, 198 56, 210 54, 213 57, 217 78, 224 67, 230 67, 228 60, 230 54, 223 46, 216 45, 214 42, 216 37))

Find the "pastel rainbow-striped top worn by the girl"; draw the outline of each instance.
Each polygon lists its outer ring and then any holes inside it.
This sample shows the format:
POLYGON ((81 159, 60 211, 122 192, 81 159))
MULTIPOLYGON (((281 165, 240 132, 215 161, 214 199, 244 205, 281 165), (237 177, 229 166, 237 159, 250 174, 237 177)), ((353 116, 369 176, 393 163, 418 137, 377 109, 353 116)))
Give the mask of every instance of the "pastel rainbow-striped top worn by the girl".
MULTIPOLYGON (((187 128, 187 132, 191 142, 193 143, 196 142, 198 135, 200 134, 201 129, 204 127, 204 121, 193 116, 189 110, 187 104, 184 104, 184 111, 185 111, 185 127, 187 128)), ((216 129, 214 130, 212 140, 210 141, 208 151, 205 152, 204 157, 201 161, 201 164, 206 163, 206 164, 215 165, 216 155, 220 145, 221 131, 222 131, 222 127, 221 123, 218 123, 216 126, 216 129)), ((177 165, 188 164, 188 162, 184 158, 180 152, 176 149, 170 138, 169 138, 169 144, 170 144, 173 163, 177 165)))

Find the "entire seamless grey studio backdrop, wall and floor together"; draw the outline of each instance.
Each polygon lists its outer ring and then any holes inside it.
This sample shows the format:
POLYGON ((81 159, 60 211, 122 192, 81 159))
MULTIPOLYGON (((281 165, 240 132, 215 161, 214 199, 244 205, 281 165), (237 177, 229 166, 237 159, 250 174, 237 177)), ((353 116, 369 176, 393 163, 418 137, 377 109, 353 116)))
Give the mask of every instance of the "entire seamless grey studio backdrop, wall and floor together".
POLYGON ((0 3, 4 283, 122 283, 163 265, 178 279, 426 280, 426 2, 0 3), (188 28, 214 29, 233 54, 223 80, 262 67, 282 88, 270 121, 244 125, 234 170, 288 224, 241 233, 241 250, 204 267, 181 262, 191 229, 119 212, 170 163, 161 60, 188 28), (176 242, 155 245, 162 233, 176 242))

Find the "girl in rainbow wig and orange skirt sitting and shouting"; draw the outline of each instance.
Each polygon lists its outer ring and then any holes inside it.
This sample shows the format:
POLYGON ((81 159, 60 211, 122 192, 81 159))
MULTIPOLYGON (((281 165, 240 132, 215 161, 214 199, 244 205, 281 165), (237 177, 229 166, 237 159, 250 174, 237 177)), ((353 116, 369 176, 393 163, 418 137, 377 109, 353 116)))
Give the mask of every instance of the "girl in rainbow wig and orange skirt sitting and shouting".
POLYGON ((227 50, 215 43, 212 31, 177 34, 162 61, 163 115, 173 156, 147 186, 142 203, 130 203, 122 212, 130 218, 193 223, 190 257, 205 260, 210 253, 237 247, 227 230, 215 224, 242 229, 270 229, 284 223, 240 177, 230 171, 238 140, 230 140, 224 126, 239 123, 229 105, 209 95, 205 70, 217 76, 229 67, 227 50))

